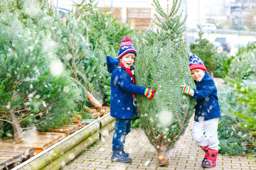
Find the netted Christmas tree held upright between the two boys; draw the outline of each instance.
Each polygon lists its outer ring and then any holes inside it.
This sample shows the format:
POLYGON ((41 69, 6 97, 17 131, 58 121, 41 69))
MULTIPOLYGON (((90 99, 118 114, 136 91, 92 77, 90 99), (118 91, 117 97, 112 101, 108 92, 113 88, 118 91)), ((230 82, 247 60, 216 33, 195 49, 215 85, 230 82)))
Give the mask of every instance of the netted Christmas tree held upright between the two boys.
POLYGON ((165 12, 154 0, 158 15, 151 23, 136 58, 136 84, 156 89, 151 101, 137 96, 137 111, 144 132, 159 154, 159 164, 169 164, 169 149, 183 135, 195 101, 181 92, 181 85, 195 84, 188 68, 188 47, 183 36, 186 18, 177 16, 181 1, 165 12))

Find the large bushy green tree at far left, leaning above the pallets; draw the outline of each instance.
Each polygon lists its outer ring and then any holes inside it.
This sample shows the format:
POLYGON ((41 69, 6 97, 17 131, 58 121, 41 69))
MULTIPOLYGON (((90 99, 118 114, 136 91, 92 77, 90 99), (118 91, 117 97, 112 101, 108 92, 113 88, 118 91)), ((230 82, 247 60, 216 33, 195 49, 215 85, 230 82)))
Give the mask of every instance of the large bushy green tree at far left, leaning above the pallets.
POLYGON ((45 130, 71 123, 68 111, 75 106, 78 91, 70 86, 70 74, 47 45, 45 33, 30 28, 31 19, 27 26, 22 22, 16 2, 0 4, 0 129, 12 125, 19 142, 21 128, 45 130))

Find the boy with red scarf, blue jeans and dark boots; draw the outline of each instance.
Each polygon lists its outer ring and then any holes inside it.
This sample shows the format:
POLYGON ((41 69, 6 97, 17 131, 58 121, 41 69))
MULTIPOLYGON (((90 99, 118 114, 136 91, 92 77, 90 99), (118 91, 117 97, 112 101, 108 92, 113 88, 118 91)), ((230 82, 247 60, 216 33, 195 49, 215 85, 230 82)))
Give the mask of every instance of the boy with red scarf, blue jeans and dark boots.
POLYGON ((151 99, 155 90, 136 86, 134 64, 136 50, 132 39, 125 37, 119 47, 118 59, 107 56, 107 70, 111 73, 110 115, 116 118, 112 140, 112 162, 132 162, 124 152, 125 137, 131 132, 131 118, 137 115, 134 94, 141 94, 151 99))

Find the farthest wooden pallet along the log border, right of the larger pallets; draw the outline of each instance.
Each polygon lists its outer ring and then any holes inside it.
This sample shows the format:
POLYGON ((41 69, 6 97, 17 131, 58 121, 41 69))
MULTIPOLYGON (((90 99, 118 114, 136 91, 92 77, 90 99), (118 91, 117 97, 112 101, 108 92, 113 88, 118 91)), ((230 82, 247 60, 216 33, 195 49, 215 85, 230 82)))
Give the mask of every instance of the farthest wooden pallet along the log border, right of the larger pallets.
POLYGON ((60 132, 60 133, 64 133, 65 136, 67 137, 68 135, 70 135, 71 133, 79 130, 80 128, 85 127, 86 123, 85 122, 80 122, 80 123, 73 123, 70 125, 65 125, 62 127, 58 127, 58 128, 50 128, 48 131, 49 132, 60 132))

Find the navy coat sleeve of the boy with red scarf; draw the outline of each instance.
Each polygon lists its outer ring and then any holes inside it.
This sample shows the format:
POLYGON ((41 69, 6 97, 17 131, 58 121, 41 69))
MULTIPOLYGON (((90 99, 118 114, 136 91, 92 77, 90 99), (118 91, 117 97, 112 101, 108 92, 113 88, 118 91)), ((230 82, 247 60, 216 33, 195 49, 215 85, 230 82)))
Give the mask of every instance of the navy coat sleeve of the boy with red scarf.
MULTIPOLYGON (((116 71, 116 70, 115 70, 116 71)), ((126 91, 131 94, 142 94, 146 90, 144 86, 136 86, 131 83, 129 80, 130 77, 127 77, 127 72, 122 69, 117 69, 116 72, 112 72, 111 79, 115 86, 118 86, 122 91, 126 91)))

